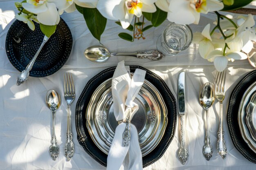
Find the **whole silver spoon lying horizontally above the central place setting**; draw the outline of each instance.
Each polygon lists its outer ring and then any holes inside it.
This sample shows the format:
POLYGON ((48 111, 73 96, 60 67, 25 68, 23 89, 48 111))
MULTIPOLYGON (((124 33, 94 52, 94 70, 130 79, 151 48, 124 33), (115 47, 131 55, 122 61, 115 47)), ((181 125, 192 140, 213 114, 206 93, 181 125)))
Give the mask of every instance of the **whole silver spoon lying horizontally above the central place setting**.
POLYGON ((139 51, 135 53, 110 53, 104 46, 90 46, 85 50, 84 55, 92 62, 106 62, 110 56, 115 55, 147 58, 150 60, 160 60, 165 56, 157 50, 139 51))

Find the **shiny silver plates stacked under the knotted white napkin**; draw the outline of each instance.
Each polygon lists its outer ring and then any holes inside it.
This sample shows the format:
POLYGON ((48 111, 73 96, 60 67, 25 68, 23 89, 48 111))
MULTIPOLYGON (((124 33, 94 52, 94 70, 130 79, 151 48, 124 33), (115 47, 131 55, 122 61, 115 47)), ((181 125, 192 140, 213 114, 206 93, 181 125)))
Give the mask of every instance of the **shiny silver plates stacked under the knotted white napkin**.
MULTIPOLYGON (((90 99, 86 110, 86 126, 96 146, 108 154, 116 121, 113 112, 111 92, 112 78, 100 84, 90 99)), ((139 110, 133 116, 131 123, 137 128, 142 156, 150 153, 161 141, 167 126, 167 108, 161 93, 145 79, 134 102, 139 110)))

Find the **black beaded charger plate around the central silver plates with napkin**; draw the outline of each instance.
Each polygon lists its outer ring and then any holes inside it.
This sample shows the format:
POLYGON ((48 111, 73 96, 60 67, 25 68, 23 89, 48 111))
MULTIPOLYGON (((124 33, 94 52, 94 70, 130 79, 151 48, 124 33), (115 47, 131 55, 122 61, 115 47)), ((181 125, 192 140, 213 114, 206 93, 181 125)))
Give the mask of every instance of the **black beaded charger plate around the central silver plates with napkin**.
MULTIPOLYGON (((94 76, 92 79, 89 80, 89 82, 86 84, 85 88, 83 89, 83 92, 81 93, 77 103, 76 103, 76 132, 77 132, 77 139, 79 141, 79 144, 83 146, 85 151, 97 162, 99 162, 103 166, 107 166, 107 157, 108 155, 103 152, 93 141, 92 137, 90 136, 88 127, 87 127, 87 109, 88 104, 92 98, 93 93, 96 91, 96 89, 103 84, 103 82, 109 80, 112 78, 116 67, 108 68, 101 73, 94 76)), ((176 106, 176 100, 173 94, 171 93, 170 89, 164 82, 164 80, 156 75, 155 73, 147 70, 146 68, 143 68, 141 66, 130 66, 130 72, 134 73, 136 68, 140 68, 146 71, 145 79, 152 84, 158 91, 159 94, 162 95, 163 102, 166 106, 167 115, 166 115, 166 128, 163 132, 162 138, 159 140, 158 144, 151 150, 151 152, 148 152, 142 157, 143 161, 143 167, 149 166, 150 164, 154 163, 158 159, 162 157, 166 149, 168 148, 169 144, 171 143, 175 128, 176 128, 176 121, 177 121, 177 106, 176 106)), ((103 95, 101 97, 109 97, 110 88, 105 88, 104 93, 106 95, 103 95)), ((142 93, 148 93, 146 92, 147 89, 144 88, 142 93)), ((141 93, 141 94, 142 94, 141 93)), ((148 95, 148 94, 147 94, 148 95)), ((99 99, 101 98, 99 97, 99 99)), ((101 99, 103 99, 101 98, 101 99)), ((137 102, 146 102, 147 100, 143 99, 144 97, 141 97, 137 99, 137 102)), ((109 103, 111 99, 108 100, 109 103)), ((98 102, 97 102, 98 103, 98 102)), ((102 107, 109 108, 111 107, 111 104, 102 107)), ((141 104, 142 106, 142 104, 141 104)), ((147 106, 147 105, 145 105, 147 106)), ((157 105, 156 105, 157 106, 157 105)), ((152 108, 151 108, 152 109, 152 108)), ((150 108, 143 109, 141 111, 142 115, 145 115, 145 110, 147 113, 150 113, 150 108)), ((97 113, 100 115, 100 113, 97 113)), ((162 113, 161 113, 162 114, 162 113)), ((139 115, 138 115, 139 117, 139 115)), ((102 118, 102 115, 101 115, 102 118)), ((134 119, 134 118, 133 118, 134 119)), ((102 120, 102 119, 101 119, 102 120)), ((94 123, 99 121, 98 119, 94 119, 94 123)), ((99 124, 99 122, 97 123, 99 124)), ((117 125, 117 124, 116 124, 117 125)), ((114 128, 116 125, 113 125, 112 128, 114 128)), ((111 128, 110 128, 111 129, 111 128)), ((161 129, 161 128, 159 128, 161 129)), ((141 132, 141 131, 139 131, 141 132)), ((98 133, 98 131, 94 131, 94 133, 98 133)), ((154 139, 155 140, 155 139, 154 139)))

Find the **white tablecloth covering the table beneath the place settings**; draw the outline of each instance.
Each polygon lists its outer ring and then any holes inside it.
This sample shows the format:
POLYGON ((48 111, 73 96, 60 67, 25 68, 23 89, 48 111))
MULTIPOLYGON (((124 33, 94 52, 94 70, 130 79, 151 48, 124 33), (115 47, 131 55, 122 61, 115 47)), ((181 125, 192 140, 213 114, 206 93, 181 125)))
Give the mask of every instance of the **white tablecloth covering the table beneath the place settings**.
MULTIPOLYGON (((168 85, 177 96, 177 78, 180 71, 186 71, 186 139, 189 144, 189 160, 181 165, 177 151, 180 147, 179 125, 175 137, 163 157, 144 168, 145 170, 253 170, 256 164, 248 161, 234 147, 227 128, 227 106, 229 96, 249 71, 254 68, 247 60, 229 63, 227 73, 227 92, 224 106, 224 130, 228 155, 223 160, 217 152, 217 130, 219 124, 219 104, 215 102, 209 110, 209 124, 213 157, 207 161, 202 155, 204 145, 205 122, 204 110, 198 102, 200 87, 205 82, 213 82, 216 70, 213 63, 200 57, 197 46, 191 45, 175 57, 165 57, 160 61, 142 60, 133 57, 110 57, 102 64, 85 59, 83 51, 99 42, 87 29, 83 16, 79 12, 64 13, 62 18, 67 22, 73 36, 73 48, 66 64, 48 77, 29 77, 27 82, 16 86, 18 71, 9 62, 5 52, 5 38, 9 24, 17 10, 13 0, 0 0, 0 170, 105 170, 92 159, 79 145, 76 137, 75 107, 85 84, 97 73, 116 66, 121 60, 126 65, 143 66, 153 71, 168 85), (72 132, 75 154, 70 162, 64 156, 65 134, 67 126, 67 104, 63 97, 63 73, 74 75, 76 98, 71 106, 72 132), (56 138, 60 154, 56 161, 49 156, 49 145, 52 132, 52 113, 45 104, 45 94, 55 89, 61 95, 62 103, 56 113, 56 138)), ((207 23, 212 23, 214 14, 201 17, 199 25, 191 25, 193 32, 202 31, 207 23)), ((108 20, 106 30, 101 36, 101 43, 113 52, 132 52, 156 49, 156 40, 168 21, 162 26, 144 33, 146 40, 127 42, 118 37, 123 32, 114 21, 108 20)))

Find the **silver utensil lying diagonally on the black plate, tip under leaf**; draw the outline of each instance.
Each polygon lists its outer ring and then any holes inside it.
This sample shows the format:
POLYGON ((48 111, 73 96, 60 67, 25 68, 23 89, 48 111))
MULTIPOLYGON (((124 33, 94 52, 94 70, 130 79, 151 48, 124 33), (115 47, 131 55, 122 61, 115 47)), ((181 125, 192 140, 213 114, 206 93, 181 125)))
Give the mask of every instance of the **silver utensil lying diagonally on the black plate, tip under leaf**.
POLYGON ((17 77, 17 83, 16 85, 19 86, 20 84, 22 84, 23 82, 25 82, 27 80, 27 78, 29 77, 29 71, 31 71, 36 58, 38 56, 38 54, 40 53, 41 49, 43 48, 43 46, 45 45, 45 43, 49 40, 49 37, 47 37, 46 35, 44 36, 43 42, 40 45, 38 51, 36 52, 36 54, 34 55, 34 57, 32 58, 32 60, 29 62, 29 64, 27 65, 27 67, 25 68, 25 70, 23 70, 17 77))

